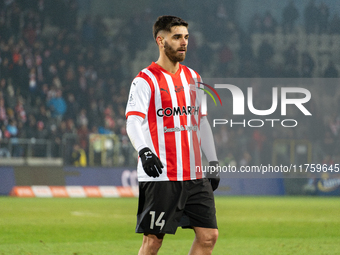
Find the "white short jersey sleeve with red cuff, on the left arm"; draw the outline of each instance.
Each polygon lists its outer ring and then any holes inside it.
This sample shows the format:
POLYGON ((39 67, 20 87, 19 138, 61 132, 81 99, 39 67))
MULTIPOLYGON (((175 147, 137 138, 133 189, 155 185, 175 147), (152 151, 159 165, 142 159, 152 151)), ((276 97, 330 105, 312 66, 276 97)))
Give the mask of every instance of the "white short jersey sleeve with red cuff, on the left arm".
POLYGON ((128 102, 126 105, 125 116, 137 115, 145 118, 151 98, 149 84, 141 77, 136 77, 130 87, 128 102))

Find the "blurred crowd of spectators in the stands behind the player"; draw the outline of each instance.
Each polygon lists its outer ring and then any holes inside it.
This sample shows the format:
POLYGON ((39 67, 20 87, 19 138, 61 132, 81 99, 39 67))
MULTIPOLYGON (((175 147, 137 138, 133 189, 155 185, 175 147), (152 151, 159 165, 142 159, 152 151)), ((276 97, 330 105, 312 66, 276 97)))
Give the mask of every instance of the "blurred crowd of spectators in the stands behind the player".
MULTIPOLYGON (((299 13, 287 1, 282 22, 269 10, 251 17, 249 27, 242 29, 236 1, 201 1, 180 11, 180 1, 153 2, 123 19, 80 17, 76 0, 0 0, 1 147, 10 138, 50 139, 52 157, 59 157, 63 136, 72 134, 88 153, 91 133, 116 134, 123 147, 130 146, 124 117, 128 90, 136 73, 156 60, 151 27, 160 13, 176 13, 190 22, 185 64, 203 77, 339 75, 334 57, 339 53, 340 18, 330 17, 325 4, 306 2, 299 13), (302 26, 296 22, 299 16, 302 26)), ((339 158, 338 90, 330 86, 316 94, 322 104, 311 106, 317 123, 282 133, 221 128, 216 134, 219 157, 238 165, 271 162, 273 139, 306 138, 318 144, 315 160, 339 158)), ((11 154, 21 157, 25 151, 11 154)))

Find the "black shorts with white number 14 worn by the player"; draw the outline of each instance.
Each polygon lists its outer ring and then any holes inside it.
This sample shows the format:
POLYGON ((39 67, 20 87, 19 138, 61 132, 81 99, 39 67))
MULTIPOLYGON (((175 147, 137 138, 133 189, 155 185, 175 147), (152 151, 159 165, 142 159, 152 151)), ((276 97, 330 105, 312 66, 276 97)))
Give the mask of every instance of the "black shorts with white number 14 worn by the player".
POLYGON ((217 228, 208 179, 140 182, 136 233, 175 234, 179 226, 217 228))

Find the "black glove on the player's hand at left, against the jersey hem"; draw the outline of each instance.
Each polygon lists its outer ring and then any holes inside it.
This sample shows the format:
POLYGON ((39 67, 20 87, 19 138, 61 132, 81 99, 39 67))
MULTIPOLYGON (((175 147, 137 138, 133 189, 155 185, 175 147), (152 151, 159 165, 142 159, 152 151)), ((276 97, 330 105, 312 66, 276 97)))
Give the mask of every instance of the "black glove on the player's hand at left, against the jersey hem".
POLYGON ((141 149, 138 154, 147 175, 156 178, 162 173, 162 162, 148 147, 141 149))

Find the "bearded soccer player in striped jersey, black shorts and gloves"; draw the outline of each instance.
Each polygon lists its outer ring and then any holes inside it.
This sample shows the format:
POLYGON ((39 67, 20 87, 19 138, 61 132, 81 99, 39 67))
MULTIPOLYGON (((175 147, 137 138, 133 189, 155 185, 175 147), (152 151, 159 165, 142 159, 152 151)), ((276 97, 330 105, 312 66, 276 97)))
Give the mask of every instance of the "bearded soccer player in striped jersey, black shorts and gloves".
POLYGON ((203 150, 217 166, 209 122, 201 111, 202 83, 181 65, 188 46, 188 23, 160 16, 153 26, 159 58, 132 81, 126 107, 127 132, 138 151, 139 255, 157 254, 165 234, 178 226, 195 232, 189 254, 211 254, 218 237, 213 191, 219 176, 202 170, 203 150))

